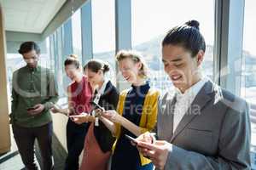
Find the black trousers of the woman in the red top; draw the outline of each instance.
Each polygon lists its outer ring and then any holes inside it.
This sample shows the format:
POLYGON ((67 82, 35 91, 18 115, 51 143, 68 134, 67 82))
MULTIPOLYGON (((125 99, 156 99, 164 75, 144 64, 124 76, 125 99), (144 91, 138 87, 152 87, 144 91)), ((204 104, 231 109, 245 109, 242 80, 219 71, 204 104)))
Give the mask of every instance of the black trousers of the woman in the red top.
POLYGON ((84 149, 84 137, 87 133, 89 124, 81 125, 72 122, 70 119, 67 122, 67 159, 65 170, 79 169, 79 156, 84 149))

